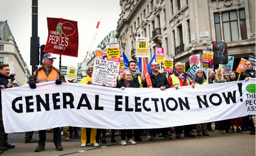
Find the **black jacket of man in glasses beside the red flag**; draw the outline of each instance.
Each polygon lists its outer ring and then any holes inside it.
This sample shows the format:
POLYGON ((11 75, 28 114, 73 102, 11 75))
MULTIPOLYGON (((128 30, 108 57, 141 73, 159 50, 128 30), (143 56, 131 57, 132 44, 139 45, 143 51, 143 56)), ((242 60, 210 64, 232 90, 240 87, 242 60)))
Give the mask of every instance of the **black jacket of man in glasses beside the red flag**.
POLYGON ((158 78, 155 80, 155 77, 153 76, 152 72, 149 74, 151 82, 152 82, 152 87, 153 88, 160 88, 164 86, 166 89, 170 88, 170 84, 163 73, 158 73, 158 78))

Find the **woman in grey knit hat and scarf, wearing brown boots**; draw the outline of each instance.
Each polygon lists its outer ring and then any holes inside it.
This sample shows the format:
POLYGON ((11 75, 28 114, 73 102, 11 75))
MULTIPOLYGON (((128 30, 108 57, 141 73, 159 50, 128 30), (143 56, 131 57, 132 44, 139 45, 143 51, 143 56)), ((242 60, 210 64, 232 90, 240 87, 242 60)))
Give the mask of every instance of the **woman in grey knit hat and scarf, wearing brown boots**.
MULTIPOLYGON (((195 83, 195 85, 202 85, 202 84, 207 84, 206 79, 203 77, 203 70, 202 69, 196 69, 195 70, 195 78, 193 80, 193 82, 195 83)), ((200 126, 201 124, 196 124, 196 136, 201 136, 201 132, 200 132, 200 126)), ((202 135, 205 136, 209 136, 209 134, 206 131, 206 123, 202 123, 202 135)))

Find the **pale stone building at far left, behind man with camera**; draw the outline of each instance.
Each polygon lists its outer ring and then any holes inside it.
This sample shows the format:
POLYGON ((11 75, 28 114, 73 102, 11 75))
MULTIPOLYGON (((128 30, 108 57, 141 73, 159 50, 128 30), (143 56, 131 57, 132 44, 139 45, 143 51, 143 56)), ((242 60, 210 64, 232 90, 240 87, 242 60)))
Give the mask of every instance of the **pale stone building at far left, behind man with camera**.
POLYGON ((0 22, 0 64, 3 63, 9 64, 10 74, 16 74, 13 82, 14 87, 27 83, 31 74, 7 22, 0 22))

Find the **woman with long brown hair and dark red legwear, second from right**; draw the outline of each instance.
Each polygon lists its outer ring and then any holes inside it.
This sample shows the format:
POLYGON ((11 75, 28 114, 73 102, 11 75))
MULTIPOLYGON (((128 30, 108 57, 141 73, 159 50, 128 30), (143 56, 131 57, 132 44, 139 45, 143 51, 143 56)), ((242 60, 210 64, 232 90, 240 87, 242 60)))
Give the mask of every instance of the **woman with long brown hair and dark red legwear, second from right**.
MULTIPOLYGON (((229 80, 230 81, 237 81, 238 80, 238 74, 235 71, 232 71, 229 75, 229 80)), ((241 130, 239 128, 243 126, 242 124, 242 117, 238 117, 238 118, 234 118, 234 119, 230 119, 230 126, 231 126, 231 131, 233 133, 237 132, 237 133, 243 133, 243 130, 241 130), (234 129, 234 126, 236 126, 236 130, 234 129)))

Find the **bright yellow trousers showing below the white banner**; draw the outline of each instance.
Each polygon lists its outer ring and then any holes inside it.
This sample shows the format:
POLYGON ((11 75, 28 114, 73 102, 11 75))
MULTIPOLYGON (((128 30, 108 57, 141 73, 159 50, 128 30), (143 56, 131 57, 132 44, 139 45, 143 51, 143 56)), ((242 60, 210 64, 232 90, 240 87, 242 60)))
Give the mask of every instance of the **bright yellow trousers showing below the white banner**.
POLYGON ((81 142, 83 143, 96 143, 97 129, 82 128, 81 142))

